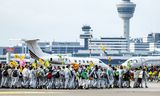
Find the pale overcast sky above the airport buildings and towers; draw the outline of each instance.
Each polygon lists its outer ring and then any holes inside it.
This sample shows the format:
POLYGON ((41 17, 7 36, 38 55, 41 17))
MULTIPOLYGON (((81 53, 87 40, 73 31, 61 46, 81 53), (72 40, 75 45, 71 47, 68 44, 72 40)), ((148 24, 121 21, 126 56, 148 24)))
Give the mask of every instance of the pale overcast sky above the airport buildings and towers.
MULTIPOLYGON (((120 37, 122 20, 116 4, 121 0, 0 0, 0 46, 9 39, 39 38, 41 41, 82 41, 81 27, 88 24, 94 38, 120 37)), ((160 0, 136 3, 130 36, 160 32, 160 0)))

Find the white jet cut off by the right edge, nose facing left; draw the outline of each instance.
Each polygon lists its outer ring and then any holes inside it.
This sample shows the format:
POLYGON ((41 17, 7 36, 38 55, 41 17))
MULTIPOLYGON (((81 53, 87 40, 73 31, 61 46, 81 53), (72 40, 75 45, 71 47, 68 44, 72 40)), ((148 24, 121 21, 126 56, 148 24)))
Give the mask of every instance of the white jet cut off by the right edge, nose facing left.
POLYGON ((131 68, 140 66, 160 66, 160 56, 132 57, 126 60, 122 66, 131 66, 131 68))

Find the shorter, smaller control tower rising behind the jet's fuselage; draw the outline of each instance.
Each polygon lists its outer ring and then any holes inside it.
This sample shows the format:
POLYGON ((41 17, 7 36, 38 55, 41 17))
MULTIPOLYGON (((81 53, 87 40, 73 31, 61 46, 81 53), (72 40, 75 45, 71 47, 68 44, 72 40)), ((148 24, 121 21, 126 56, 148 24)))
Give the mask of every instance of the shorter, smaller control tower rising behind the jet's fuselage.
POLYGON ((92 34, 91 34, 91 27, 88 25, 84 25, 82 27, 82 31, 84 32, 84 34, 80 34, 80 38, 84 39, 84 49, 88 49, 88 43, 89 43, 89 39, 92 38, 92 34))

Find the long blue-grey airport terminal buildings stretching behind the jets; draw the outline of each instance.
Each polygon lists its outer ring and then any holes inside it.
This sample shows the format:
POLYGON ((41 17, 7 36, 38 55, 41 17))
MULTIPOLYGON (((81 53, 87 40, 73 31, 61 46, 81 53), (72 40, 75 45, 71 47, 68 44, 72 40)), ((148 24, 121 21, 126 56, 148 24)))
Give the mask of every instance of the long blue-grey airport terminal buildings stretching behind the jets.
MULTIPOLYGON (((81 45, 80 42, 56 41, 40 41, 38 42, 38 45, 44 52, 49 54, 70 54, 70 56, 96 57, 104 60, 107 58, 107 56, 111 56, 113 59, 116 57, 119 58, 119 60, 128 59, 128 55, 160 56, 160 33, 151 33, 145 38, 130 39, 129 52, 127 51, 127 41, 122 37, 101 37, 100 39, 90 38, 88 41, 84 41, 85 42, 83 45, 81 45), (86 44, 88 44, 87 47, 86 44), (105 53, 102 51, 102 47, 105 47, 105 53)), ((0 62, 2 63, 6 62, 7 48, 8 47, 0 47, 0 62)), ((13 49, 13 54, 28 54, 28 48, 26 44, 21 44, 21 46, 13 46, 13 49)))

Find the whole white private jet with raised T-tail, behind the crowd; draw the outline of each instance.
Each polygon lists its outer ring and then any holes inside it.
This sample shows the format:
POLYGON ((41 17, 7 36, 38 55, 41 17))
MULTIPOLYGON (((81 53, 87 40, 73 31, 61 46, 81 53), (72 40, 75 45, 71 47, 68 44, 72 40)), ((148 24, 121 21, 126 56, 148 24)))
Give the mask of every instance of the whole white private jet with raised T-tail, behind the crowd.
POLYGON ((61 65, 62 63, 64 64, 76 63, 81 65, 89 65, 89 62, 92 61, 94 65, 108 68, 108 65, 106 65, 104 62, 102 62, 97 58, 81 58, 81 57, 67 57, 67 56, 61 57, 53 54, 44 53, 37 44, 38 40, 39 39, 23 40, 25 41, 25 43, 27 43, 31 58, 35 60, 39 60, 39 59, 49 60, 50 63, 56 64, 56 65, 57 64, 61 65))

